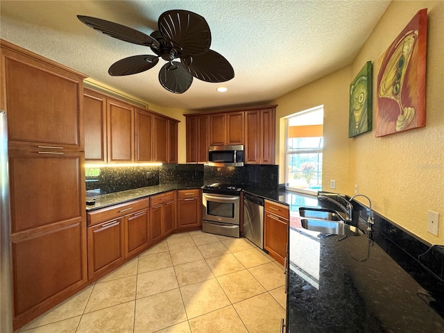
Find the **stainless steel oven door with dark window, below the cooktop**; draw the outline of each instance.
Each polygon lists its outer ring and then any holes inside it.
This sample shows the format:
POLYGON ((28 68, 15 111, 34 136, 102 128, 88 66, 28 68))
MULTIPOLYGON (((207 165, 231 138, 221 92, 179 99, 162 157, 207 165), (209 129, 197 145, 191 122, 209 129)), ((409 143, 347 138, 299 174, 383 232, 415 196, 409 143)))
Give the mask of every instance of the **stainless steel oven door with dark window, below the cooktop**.
POLYGON ((203 220, 239 225, 239 196, 202 194, 203 220))

